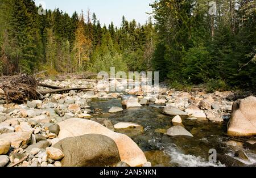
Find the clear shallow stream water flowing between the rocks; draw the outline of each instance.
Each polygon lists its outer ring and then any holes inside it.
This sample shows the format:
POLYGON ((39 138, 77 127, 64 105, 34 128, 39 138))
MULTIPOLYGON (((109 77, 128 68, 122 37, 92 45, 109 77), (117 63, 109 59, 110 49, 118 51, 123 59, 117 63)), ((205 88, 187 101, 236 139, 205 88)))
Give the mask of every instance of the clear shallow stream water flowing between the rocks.
MULTIPOLYGON (((122 99, 130 96, 125 95, 122 99)), ((119 113, 108 113, 112 107, 122 107, 121 99, 92 100, 92 111, 100 109, 101 113, 94 113, 94 117, 109 118, 113 125, 118 122, 134 122, 142 125, 143 132, 125 132, 144 151, 152 166, 225 166, 220 162, 211 163, 209 150, 215 149, 218 154, 234 157, 233 147, 226 142, 246 142, 255 137, 234 138, 226 135, 227 121, 216 124, 208 121, 188 120, 183 118, 185 129, 194 137, 170 137, 165 135, 167 129, 174 126, 171 116, 163 115, 163 107, 160 105, 149 105, 141 108, 124 109, 119 113)), ((246 164, 256 162, 256 152, 244 150, 249 159, 236 158, 246 164)))

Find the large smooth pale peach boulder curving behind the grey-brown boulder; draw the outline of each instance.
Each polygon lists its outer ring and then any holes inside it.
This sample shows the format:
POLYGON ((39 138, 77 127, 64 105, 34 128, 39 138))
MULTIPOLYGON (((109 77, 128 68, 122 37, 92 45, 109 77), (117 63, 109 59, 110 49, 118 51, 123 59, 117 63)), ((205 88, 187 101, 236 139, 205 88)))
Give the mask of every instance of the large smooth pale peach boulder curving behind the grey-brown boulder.
POLYGON ((97 122, 81 118, 70 118, 59 123, 59 138, 77 137, 85 134, 106 135, 117 144, 120 158, 130 166, 142 166, 147 162, 143 151, 127 135, 114 133, 97 122))

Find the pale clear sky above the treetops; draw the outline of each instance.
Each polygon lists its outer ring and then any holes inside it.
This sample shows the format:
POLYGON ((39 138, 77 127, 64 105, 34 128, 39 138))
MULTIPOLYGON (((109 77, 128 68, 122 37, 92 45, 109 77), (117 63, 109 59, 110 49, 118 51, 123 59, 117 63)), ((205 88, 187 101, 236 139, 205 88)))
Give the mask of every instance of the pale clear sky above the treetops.
POLYGON ((91 13, 95 12, 102 26, 104 23, 108 26, 113 21, 119 27, 123 15, 128 21, 135 19, 144 24, 150 16, 146 12, 152 12, 149 4, 154 0, 35 0, 36 6, 40 2, 45 3, 46 9, 59 8, 70 16, 75 11, 80 14, 81 10, 86 12, 89 8, 91 13))

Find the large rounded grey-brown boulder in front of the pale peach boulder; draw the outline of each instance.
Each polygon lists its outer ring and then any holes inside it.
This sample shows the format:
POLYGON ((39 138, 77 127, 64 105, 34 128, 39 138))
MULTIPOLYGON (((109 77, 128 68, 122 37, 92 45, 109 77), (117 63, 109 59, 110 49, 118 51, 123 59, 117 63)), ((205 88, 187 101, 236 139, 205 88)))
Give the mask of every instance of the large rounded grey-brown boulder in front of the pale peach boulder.
POLYGON ((63 151, 63 167, 113 166, 121 160, 113 139, 100 134, 65 138, 53 147, 63 151))

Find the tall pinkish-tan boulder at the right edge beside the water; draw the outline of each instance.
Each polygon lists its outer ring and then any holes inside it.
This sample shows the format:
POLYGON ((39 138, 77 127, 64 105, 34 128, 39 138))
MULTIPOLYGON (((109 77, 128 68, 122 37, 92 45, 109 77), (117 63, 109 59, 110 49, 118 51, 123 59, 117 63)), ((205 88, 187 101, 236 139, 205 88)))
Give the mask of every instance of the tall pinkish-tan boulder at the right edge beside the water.
POLYGON ((254 96, 234 102, 228 124, 228 135, 238 137, 256 135, 256 98, 254 96))

